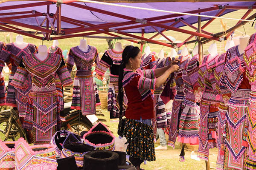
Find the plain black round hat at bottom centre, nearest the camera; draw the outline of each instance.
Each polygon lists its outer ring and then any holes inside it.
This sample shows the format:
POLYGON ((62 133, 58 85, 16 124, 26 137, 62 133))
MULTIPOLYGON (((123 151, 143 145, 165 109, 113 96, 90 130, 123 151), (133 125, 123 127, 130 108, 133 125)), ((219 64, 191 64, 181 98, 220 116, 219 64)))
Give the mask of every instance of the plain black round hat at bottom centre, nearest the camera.
POLYGON ((94 150, 84 155, 84 170, 118 170, 118 153, 94 150))

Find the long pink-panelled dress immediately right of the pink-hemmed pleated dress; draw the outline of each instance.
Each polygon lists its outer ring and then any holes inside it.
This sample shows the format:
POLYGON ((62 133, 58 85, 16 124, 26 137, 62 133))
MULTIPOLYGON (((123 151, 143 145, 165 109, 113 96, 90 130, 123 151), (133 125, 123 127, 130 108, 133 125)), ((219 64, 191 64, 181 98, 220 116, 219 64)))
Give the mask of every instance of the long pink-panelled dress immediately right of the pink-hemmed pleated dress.
POLYGON ((202 65, 198 71, 198 86, 196 91, 202 92, 202 99, 200 103, 200 127, 199 127, 199 148, 198 156, 201 159, 208 161, 209 149, 216 147, 215 141, 217 137, 218 127, 218 100, 215 94, 215 77, 214 71, 216 66, 216 59, 219 57, 212 57, 210 54, 205 56, 202 65))

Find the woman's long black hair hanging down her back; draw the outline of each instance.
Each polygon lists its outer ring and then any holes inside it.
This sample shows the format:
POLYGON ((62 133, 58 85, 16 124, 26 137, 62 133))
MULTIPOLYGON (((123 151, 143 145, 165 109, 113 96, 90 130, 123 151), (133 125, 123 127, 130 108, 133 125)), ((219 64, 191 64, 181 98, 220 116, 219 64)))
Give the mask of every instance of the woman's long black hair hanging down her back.
POLYGON ((123 74, 124 74, 124 68, 125 65, 128 63, 130 58, 135 58, 140 52, 140 48, 134 47, 133 45, 128 45, 125 47, 124 51, 122 52, 122 67, 119 67, 119 77, 118 77, 118 104, 120 107, 120 112, 119 115, 122 115, 123 111, 123 85, 122 85, 122 80, 123 80, 123 74))

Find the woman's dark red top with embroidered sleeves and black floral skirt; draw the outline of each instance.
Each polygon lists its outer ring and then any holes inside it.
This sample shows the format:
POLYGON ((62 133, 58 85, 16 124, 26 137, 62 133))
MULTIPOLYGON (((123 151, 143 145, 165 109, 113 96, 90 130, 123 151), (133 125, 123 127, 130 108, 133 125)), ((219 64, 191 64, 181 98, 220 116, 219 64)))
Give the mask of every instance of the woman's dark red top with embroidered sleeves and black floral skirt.
POLYGON ((127 155, 140 160, 155 161, 154 135, 151 119, 154 117, 153 96, 154 70, 136 73, 124 69, 123 87, 128 106, 125 111, 124 137, 127 139, 127 155))

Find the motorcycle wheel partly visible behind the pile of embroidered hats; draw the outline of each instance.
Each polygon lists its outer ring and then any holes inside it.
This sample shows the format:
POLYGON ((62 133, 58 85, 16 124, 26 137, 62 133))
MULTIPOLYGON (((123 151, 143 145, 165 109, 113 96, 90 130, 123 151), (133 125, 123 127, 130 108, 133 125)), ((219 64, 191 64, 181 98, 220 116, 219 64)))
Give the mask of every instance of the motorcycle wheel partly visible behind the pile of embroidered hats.
POLYGON ((81 122, 80 121, 80 125, 79 125, 79 121, 75 121, 70 123, 70 126, 67 126, 66 130, 76 133, 76 135, 78 135, 78 129, 79 129, 79 136, 80 133, 82 131, 89 131, 90 128, 92 128, 93 125, 92 124, 88 124, 87 122, 81 122))

